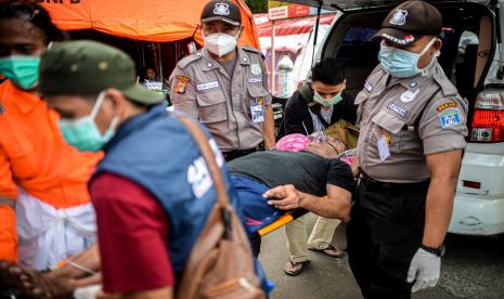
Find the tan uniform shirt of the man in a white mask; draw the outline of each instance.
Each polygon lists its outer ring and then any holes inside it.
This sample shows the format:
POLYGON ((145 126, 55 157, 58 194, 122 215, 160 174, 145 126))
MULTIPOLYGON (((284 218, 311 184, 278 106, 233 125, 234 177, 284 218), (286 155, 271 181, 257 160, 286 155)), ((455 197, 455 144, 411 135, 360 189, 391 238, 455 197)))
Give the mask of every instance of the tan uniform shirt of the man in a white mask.
POLYGON ((248 150, 262 142, 262 122, 254 122, 253 105, 271 105, 263 56, 237 48, 234 73, 216 62, 206 49, 181 60, 170 76, 171 102, 203 122, 222 152, 248 150))

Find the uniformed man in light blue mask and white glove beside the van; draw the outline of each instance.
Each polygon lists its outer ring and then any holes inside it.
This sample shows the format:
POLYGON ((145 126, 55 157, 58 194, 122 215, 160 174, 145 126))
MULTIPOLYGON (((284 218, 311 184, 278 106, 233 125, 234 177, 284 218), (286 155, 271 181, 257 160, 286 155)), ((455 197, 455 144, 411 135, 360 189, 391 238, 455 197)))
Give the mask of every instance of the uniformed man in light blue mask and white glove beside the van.
POLYGON ((424 1, 393 9, 375 35, 380 64, 356 99, 361 180, 348 253, 365 298, 411 298, 440 276, 467 135, 467 103, 437 62, 441 29, 424 1))

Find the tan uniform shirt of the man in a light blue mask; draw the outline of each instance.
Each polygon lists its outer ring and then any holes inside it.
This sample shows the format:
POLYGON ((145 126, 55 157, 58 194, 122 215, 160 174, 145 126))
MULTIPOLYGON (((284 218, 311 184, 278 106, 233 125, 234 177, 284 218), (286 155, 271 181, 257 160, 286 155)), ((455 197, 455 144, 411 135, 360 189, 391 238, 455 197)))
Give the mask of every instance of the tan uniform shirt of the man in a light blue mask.
POLYGON ((383 182, 429 178, 426 155, 466 146, 467 103, 435 63, 426 76, 392 78, 378 65, 357 95, 362 170, 383 182))

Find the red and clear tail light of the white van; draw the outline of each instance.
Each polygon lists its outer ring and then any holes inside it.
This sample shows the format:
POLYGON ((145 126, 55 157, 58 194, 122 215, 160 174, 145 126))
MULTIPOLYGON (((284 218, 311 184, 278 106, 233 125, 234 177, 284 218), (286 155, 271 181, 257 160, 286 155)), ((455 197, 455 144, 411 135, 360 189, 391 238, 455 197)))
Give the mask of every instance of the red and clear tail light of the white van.
POLYGON ((469 136, 471 142, 504 142, 504 90, 478 93, 469 136))

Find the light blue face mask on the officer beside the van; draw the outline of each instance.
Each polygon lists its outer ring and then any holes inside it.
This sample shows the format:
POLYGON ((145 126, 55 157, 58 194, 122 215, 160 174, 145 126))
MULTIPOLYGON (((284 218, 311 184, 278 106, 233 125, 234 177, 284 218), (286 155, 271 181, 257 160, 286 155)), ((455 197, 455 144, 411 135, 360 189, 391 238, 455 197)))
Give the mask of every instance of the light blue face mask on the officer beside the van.
MULTIPOLYGON (((405 50, 387 47, 382 43, 378 60, 385 70, 387 70, 391 76, 398 78, 413 77, 423 70, 418 69, 418 60, 430 49, 430 47, 432 47, 435 41, 436 38, 431 39, 421 53, 412 53, 405 50)), ((432 57, 429 65, 424 69, 427 69, 430 65, 432 65, 434 60, 435 58, 432 57)))

